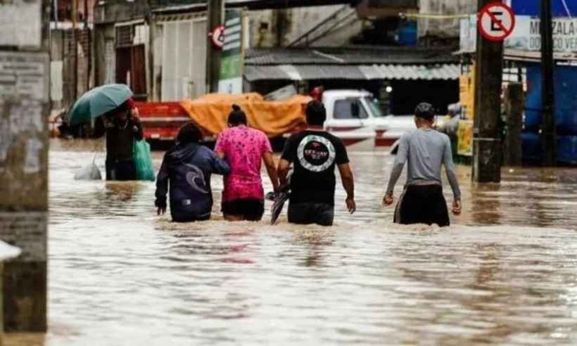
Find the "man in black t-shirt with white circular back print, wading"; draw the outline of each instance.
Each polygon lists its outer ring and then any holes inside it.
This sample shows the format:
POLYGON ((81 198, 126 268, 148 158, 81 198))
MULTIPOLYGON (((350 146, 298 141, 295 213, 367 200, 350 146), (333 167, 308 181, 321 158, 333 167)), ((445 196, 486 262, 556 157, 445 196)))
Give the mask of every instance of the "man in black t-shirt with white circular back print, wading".
POLYGON ((341 139, 323 129, 326 120, 324 105, 310 101, 305 113, 308 128, 289 137, 278 167, 281 185, 286 185, 291 163, 294 166, 290 182, 289 222, 332 226, 336 185, 334 168, 338 167, 341 173, 347 193, 346 205, 351 214, 356 210, 353 172, 341 139))

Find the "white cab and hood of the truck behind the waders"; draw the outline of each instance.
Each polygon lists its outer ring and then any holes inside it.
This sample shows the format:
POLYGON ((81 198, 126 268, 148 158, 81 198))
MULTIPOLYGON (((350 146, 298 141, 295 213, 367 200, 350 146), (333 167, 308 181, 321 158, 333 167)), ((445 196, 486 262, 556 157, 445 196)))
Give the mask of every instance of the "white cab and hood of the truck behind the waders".
POLYGON ((368 91, 326 90, 322 101, 326 107, 326 131, 347 146, 363 142, 372 148, 390 147, 415 128, 412 115, 383 115, 368 91))

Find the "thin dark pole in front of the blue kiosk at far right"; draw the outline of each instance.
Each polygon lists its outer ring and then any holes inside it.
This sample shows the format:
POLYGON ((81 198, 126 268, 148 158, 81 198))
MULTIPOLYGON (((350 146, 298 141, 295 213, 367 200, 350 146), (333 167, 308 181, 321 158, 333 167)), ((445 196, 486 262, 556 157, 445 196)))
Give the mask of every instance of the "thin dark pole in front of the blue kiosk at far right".
POLYGON ((556 163, 555 113, 554 113, 554 60, 551 0, 541 0, 541 97, 543 105, 541 142, 543 143, 543 165, 552 167, 556 163))

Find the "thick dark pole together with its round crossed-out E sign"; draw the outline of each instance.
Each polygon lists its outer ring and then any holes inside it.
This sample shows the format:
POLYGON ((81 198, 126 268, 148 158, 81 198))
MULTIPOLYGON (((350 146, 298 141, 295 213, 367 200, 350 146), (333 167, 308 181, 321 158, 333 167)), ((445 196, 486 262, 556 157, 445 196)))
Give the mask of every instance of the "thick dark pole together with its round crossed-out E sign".
POLYGON ((473 172, 476 182, 501 181, 501 83, 503 40, 514 29, 510 8, 478 0, 473 172))

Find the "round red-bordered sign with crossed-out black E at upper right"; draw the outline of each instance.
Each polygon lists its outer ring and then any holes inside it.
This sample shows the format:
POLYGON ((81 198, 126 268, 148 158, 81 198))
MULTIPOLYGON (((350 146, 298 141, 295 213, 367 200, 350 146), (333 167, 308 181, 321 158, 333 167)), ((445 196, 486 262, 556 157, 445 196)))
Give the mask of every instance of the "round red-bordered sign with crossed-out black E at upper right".
POLYGON ((512 8, 500 2, 492 2, 478 13, 478 29, 489 41, 500 42, 509 37, 515 28, 512 8))

